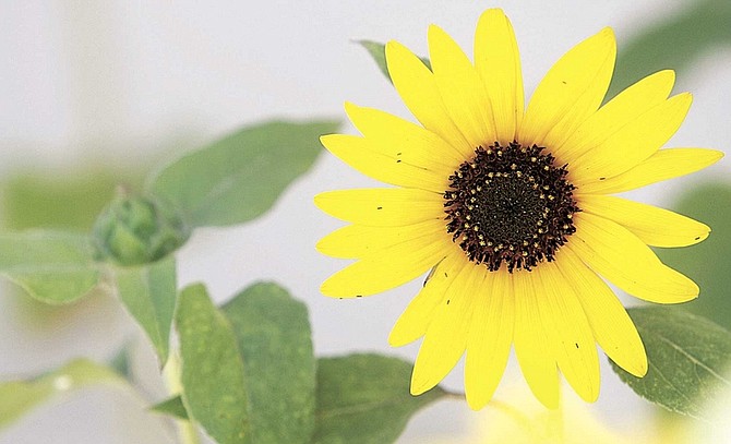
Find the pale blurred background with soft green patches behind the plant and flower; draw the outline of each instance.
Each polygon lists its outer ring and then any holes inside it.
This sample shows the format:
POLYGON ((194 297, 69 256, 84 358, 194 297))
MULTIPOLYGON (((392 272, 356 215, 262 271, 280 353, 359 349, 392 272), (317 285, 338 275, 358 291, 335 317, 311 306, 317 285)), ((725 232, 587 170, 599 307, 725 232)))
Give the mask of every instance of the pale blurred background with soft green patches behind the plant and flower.
MULTIPOLYGON (((117 184, 140 190, 153 166, 242 124, 271 118, 345 121, 345 100, 410 118, 353 40, 393 38, 427 55, 427 27, 436 23, 471 53, 477 20, 493 7, 503 8, 515 27, 527 97, 566 50, 611 26, 620 60, 610 95, 651 72, 675 69, 674 92, 691 91, 694 104, 667 146, 731 153, 729 0, 3 0, 1 227, 86 231, 117 184)), ((343 130, 353 131, 347 123, 343 130)), ((661 255, 699 284, 700 299, 688 310, 726 327, 731 327, 731 300, 724 298, 731 286, 729 172, 726 160, 630 193, 711 226, 700 245, 661 255)), ((323 152, 264 217, 195 231, 178 253, 181 285, 204 281, 221 302, 253 281, 276 280, 308 304, 316 355, 379 351, 412 360, 418 344, 390 349, 386 338, 420 280, 358 300, 328 299, 317 290, 344 262, 314 250, 316 240, 340 224, 316 211, 312 196, 372 184, 323 152)), ((109 361, 127 346, 143 389, 165 396, 152 348, 112 297, 99 292, 51 308, 7 281, 0 285, 0 380, 37 374, 80 356, 109 361)), ((462 392, 460 367, 445 385, 462 392)), ((512 360, 495 398, 516 398, 515 391, 525 391, 525 383, 512 360)), ((728 412, 729 399, 709 408, 728 412)), ((525 403, 535 409, 530 397, 525 403)), ((173 442, 170 424, 145 408, 123 391, 87 388, 34 410, 0 433, 0 443, 173 442)), ((599 401, 577 408, 632 436, 655 436, 672 418, 634 395, 604 361, 599 401)), ((506 420, 491 415, 472 412, 462 401, 440 401, 412 419, 400 442, 472 442, 486 421, 506 420)), ((672 423, 687 433, 704 429, 693 421, 672 423)))

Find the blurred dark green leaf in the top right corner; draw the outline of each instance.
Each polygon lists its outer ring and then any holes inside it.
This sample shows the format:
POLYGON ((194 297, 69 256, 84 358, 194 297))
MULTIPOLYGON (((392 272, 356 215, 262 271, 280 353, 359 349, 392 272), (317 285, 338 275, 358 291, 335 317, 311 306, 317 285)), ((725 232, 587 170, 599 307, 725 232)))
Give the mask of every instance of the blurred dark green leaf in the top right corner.
POLYGON ((616 70, 607 97, 613 97, 652 72, 672 69, 679 76, 706 57, 708 50, 731 45, 731 2, 686 2, 687 8, 657 24, 642 27, 626 44, 620 43, 616 70))

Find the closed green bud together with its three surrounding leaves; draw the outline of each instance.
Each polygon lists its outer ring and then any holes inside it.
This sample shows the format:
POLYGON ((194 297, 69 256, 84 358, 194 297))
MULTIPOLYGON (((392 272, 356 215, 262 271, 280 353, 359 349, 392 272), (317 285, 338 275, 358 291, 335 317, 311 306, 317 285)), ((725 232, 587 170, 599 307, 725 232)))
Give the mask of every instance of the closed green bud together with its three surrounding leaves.
MULTIPOLYGON (((122 303, 167 359, 176 303, 175 260, 190 230, 250 220, 312 166, 317 136, 336 122, 267 122, 190 153, 119 191, 91 235, 60 229, 0 235, 0 274, 47 303, 71 303, 113 276, 122 303), (159 263, 158 263, 159 262, 159 263)), ((69 193, 75 196, 77 193, 69 193)))

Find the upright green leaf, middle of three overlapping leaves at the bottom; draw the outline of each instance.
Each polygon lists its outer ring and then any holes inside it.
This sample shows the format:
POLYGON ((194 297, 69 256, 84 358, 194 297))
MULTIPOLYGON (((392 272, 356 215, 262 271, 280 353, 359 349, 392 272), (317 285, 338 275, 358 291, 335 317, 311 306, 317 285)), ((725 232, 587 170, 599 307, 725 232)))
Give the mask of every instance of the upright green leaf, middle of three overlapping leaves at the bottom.
POLYGON ((253 443, 307 443, 314 428, 315 359, 307 308, 256 284, 223 308, 243 357, 253 443))

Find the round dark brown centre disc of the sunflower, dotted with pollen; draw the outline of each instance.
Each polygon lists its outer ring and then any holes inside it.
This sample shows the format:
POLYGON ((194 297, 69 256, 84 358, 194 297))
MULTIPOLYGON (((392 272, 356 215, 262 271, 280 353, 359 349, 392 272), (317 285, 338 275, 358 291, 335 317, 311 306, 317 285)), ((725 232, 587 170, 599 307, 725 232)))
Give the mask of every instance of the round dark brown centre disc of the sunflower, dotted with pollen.
POLYGON ((446 229, 470 261, 498 271, 530 271, 552 261, 566 237, 576 231, 578 212, 566 180, 544 147, 499 143, 475 151, 450 177, 444 193, 446 229))

